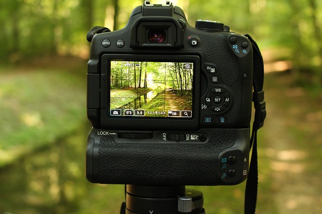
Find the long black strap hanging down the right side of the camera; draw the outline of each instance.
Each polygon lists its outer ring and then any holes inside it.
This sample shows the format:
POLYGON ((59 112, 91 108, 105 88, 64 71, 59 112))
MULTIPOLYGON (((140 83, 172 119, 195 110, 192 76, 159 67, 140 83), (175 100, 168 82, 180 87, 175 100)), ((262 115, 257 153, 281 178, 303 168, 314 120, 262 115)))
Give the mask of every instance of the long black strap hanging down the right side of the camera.
POLYGON ((253 123, 250 150, 253 146, 252 159, 245 190, 245 214, 255 213, 258 190, 258 162, 257 162, 257 131, 264 125, 266 118, 266 102, 264 100, 264 61, 261 51, 253 38, 245 35, 253 46, 254 78, 253 78, 253 102, 255 118, 253 123))

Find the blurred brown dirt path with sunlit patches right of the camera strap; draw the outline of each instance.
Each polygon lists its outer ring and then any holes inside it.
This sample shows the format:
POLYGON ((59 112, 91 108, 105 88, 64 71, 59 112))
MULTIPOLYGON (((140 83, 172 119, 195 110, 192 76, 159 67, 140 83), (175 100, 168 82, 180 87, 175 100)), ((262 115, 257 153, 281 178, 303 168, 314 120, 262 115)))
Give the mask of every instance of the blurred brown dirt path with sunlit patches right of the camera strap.
POLYGON ((292 87, 287 73, 268 74, 265 82, 257 213, 322 213, 321 95, 292 87))

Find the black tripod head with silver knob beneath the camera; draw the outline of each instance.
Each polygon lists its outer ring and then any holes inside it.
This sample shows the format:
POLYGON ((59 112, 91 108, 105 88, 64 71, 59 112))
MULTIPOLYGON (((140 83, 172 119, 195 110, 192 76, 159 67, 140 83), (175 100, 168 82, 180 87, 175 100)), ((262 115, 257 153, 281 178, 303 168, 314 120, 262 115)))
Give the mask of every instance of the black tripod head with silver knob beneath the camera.
POLYGON ((180 186, 126 185, 121 214, 205 214, 201 191, 180 186))

